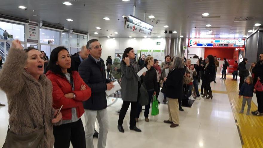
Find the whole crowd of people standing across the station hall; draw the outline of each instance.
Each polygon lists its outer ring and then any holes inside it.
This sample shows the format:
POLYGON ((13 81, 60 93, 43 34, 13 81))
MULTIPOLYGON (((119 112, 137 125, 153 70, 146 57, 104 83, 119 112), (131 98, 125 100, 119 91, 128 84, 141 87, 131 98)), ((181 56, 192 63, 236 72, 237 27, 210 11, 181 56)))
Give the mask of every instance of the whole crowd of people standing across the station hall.
MULTIPOLYGON (((77 148, 94 148, 93 137, 98 138, 97 147, 105 148, 109 131, 106 90, 114 88, 113 81, 121 85, 123 105, 120 109, 117 129, 124 132, 123 120, 131 104, 129 129, 142 132, 136 126, 142 110, 140 99, 144 97, 144 120, 150 122, 150 103, 153 96, 158 98, 163 93, 163 103, 168 107, 168 123, 171 128, 179 126, 179 111, 187 106, 189 100, 212 99, 211 82, 215 82, 219 66, 216 56, 204 58, 194 56, 191 59, 165 56, 159 61, 150 55, 137 62, 134 49, 126 48, 123 57, 116 57, 112 62, 108 57, 106 68, 102 55, 102 46, 97 39, 91 39, 83 46, 79 54, 70 56, 65 47, 55 48, 50 55, 35 48, 23 47, 19 40, 12 42, 8 58, 0 72, 0 88, 7 94, 9 127, 4 147, 20 144, 37 147, 69 147, 70 142, 77 148), (147 71, 138 76, 142 68, 147 71), (107 77, 106 77, 107 71, 107 77), (202 81, 201 93, 198 86, 202 81), (145 88, 145 92, 142 88, 145 88), (146 95, 145 95, 146 94, 146 95), (203 96, 201 96, 203 95, 203 96), (61 109, 61 111, 59 110, 61 109), (81 116, 84 115, 85 127, 81 116), (95 130, 96 119, 99 132, 95 130), (23 137, 27 142, 14 141, 12 136, 23 137), (36 136, 38 135, 38 136, 36 136), (63 135, 63 136, 62 136, 63 135)), ((1 57, 0 57, 1 61, 1 57)), ((258 110, 253 115, 262 116, 263 92, 254 89, 257 80, 263 82, 263 54, 259 62, 246 69, 247 59, 233 66, 233 80, 240 73, 240 92, 243 103, 240 113, 244 112, 248 102, 247 115, 253 91, 256 92, 258 110), (251 73, 252 76, 249 77, 251 73), (244 83, 244 80, 245 83, 244 83)), ((222 78, 226 79, 229 63, 224 58, 222 78)))

